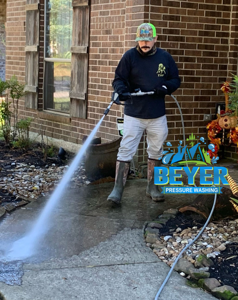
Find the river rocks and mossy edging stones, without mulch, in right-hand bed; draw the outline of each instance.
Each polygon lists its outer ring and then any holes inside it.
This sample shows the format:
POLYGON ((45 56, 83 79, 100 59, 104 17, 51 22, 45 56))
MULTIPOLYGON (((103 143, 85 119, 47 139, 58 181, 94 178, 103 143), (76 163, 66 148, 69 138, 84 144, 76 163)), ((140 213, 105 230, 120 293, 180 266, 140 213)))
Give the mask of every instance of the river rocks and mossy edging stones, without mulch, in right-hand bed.
MULTIPOLYGON (((150 247, 153 252, 155 252, 156 255, 169 266, 173 265, 174 260, 181 252, 181 250, 185 247, 186 244, 192 241, 192 239, 195 238, 197 233, 200 231, 196 230, 197 227, 193 227, 192 229, 194 230, 191 230, 191 232, 189 232, 189 229, 184 229, 183 231, 181 231, 179 230, 181 228, 178 227, 176 230, 174 230, 173 233, 171 233, 171 235, 160 235, 159 229, 162 228, 169 219, 174 219, 177 214, 177 209, 167 209, 157 219, 149 223, 147 222, 143 230, 145 242, 147 242, 147 247, 150 247), (173 234, 175 234, 175 236, 172 236, 173 234)), ((231 222, 233 222, 231 223, 231 225, 234 225, 231 227, 238 228, 238 220, 231 222)), ((221 286, 221 283, 216 278, 209 278, 209 268, 214 265, 214 262, 209 257, 216 257, 216 255, 220 254, 220 251, 226 249, 225 244, 231 243, 229 241, 226 241, 225 237, 227 237, 227 235, 222 235, 220 233, 219 230, 221 230, 221 232, 224 232, 223 227, 219 228, 215 224, 209 223, 205 229, 206 232, 204 230, 204 233, 202 233, 202 235, 195 242, 198 246, 192 244, 190 248, 183 253, 183 257, 185 258, 180 258, 178 260, 174 270, 179 272, 179 274, 184 277, 187 276, 187 279, 193 279, 193 282, 196 282, 200 288, 211 293, 213 296, 219 299, 238 300, 238 292, 232 286, 221 286), (215 232, 216 227, 218 228, 218 233, 212 233, 215 232), (209 234, 207 232, 209 232, 209 234), (213 236, 213 241, 217 241, 217 235, 219 235, 218 237, 221 238, 221 243, 217 242, 217 244, 214 243, 213 245, 209 245, 206 242, 206 240, 210 241, 211 236, 213 236), (200 238, 202 239, 202 241, 199 241, 200 238), (190 249, 196 250, 193 251, 190 249), (193 256, 191 256, 192 254, 193 256)), ((228 229, 230 230, 230 228, 228 229)), ((234 235, 237 235, 236 230, 234 230, 233 232, 234 235)), ((233 232, 231 233, 231 235, 233 234, 233 232)), ((238 238, 236 237, 234 238, 235 242, 237 242, 237 239, 238 238)))

